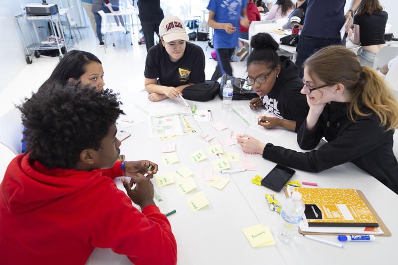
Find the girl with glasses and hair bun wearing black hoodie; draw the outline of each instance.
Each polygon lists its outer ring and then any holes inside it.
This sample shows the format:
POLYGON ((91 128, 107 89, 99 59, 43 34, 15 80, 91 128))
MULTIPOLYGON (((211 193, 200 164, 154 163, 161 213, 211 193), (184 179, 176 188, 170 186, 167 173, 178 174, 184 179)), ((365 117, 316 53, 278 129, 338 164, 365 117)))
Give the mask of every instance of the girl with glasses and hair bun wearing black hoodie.
POLYGON ((259 97, 250 101, 252 109, 264 106, 274 117, 261 117, 264 128, 284 127, 296 131, 308 113, 298 67, 286 56, 278 56, 279 44, 268 33, 251 39, 253 51, 247 59, 246 80, 259 97))

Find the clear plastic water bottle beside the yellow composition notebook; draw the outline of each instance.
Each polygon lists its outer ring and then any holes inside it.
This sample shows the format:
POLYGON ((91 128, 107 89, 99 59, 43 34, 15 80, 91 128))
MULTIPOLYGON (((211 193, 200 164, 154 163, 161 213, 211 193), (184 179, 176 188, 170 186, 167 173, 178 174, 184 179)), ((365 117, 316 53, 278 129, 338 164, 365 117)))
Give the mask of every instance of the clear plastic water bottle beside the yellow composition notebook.
POLYGON ((305 210, 305 205, 301 201, 301 197, 301 193, 295 191, 282 204, 277 238, 284 243, 292 242, 298 235, 298 224, 305 210))

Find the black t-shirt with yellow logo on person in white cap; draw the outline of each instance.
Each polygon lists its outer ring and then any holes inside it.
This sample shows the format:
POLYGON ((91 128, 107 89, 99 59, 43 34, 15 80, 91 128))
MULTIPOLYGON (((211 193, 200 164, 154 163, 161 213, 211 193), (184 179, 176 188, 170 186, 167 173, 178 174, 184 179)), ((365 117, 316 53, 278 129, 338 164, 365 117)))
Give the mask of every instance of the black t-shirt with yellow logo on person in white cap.
POLYGON ((160 42, 148 51, 144 76, 159 79, 159 85, 167 87, 198 84, 205 81, 204 64, 204 53, 198 45, 187 41, 183 57, 172 62, 160 42))

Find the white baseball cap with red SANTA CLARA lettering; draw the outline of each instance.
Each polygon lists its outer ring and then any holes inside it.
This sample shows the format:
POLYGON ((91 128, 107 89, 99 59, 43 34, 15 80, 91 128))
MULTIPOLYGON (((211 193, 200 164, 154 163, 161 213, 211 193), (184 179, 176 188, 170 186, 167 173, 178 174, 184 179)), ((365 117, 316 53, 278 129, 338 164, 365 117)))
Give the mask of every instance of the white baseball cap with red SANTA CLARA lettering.
POLYGON ((169 15, 163 18, 159 26, 159 35, 165 42, 175 40, 189 40, 184 22, 175 15, 169 15))

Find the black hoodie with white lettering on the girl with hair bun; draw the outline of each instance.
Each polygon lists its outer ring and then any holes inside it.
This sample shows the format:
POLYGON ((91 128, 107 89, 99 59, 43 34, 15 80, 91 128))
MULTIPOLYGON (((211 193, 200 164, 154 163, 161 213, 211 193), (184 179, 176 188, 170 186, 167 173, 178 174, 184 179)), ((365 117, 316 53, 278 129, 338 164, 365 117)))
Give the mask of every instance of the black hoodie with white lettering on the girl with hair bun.
POLYGON ((297 122, 296 132, 308 114, 308 103, 298 76, 298 67, 286 56, 280 56, 281 73, 268 95, 262 98, 265 108, 271 108, 277 117, 297 122))

